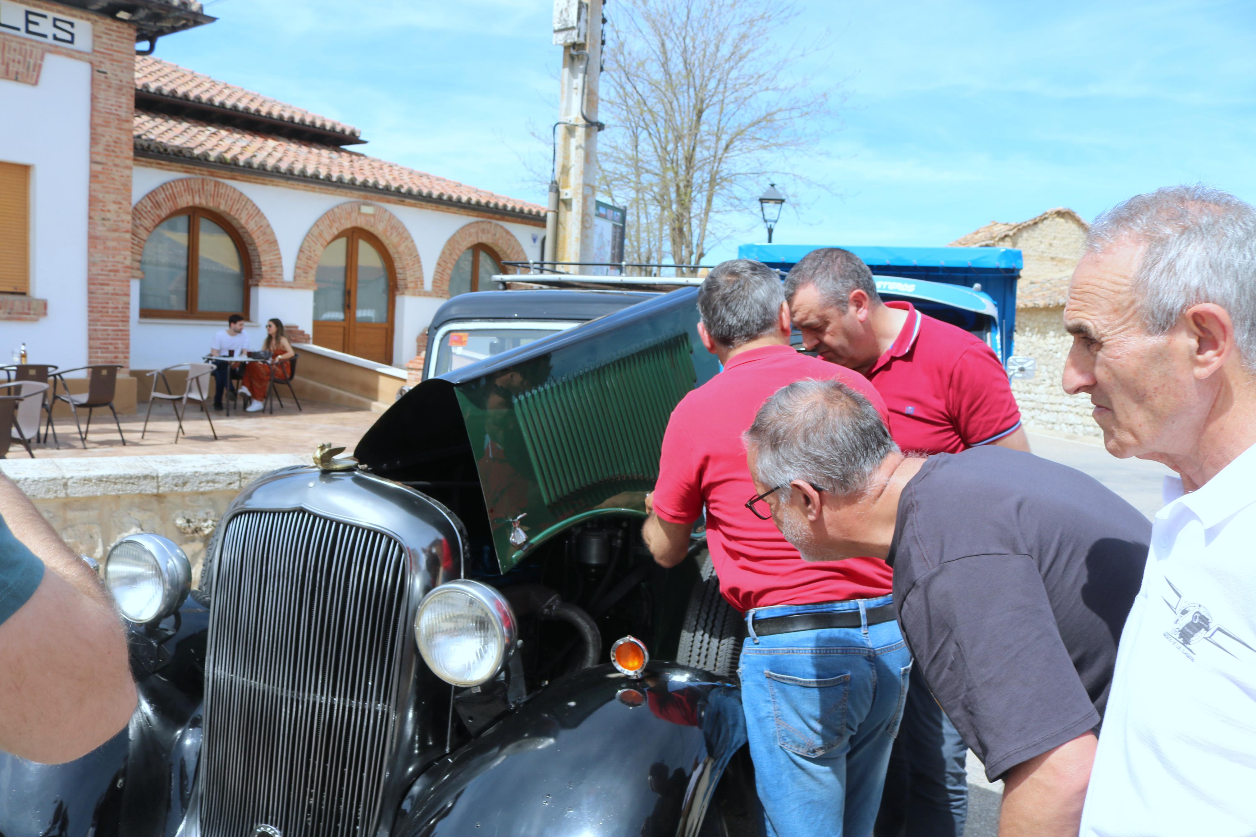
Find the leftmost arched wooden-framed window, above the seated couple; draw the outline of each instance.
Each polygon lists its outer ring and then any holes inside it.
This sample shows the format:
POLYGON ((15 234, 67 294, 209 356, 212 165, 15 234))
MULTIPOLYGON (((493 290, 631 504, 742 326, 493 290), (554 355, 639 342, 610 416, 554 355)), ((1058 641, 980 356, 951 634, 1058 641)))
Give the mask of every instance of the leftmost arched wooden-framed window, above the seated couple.
POLYGON ((249 316, 244 241, 222 216, 191 208, 157 225, 139 260, 142 316, 249 316))

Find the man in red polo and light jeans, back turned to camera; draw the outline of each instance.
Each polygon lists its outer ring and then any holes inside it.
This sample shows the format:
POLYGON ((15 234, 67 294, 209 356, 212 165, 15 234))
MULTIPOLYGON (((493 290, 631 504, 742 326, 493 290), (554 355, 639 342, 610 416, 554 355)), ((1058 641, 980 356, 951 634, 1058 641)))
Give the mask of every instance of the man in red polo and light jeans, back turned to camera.
POLYGON ((911 669, 892 573, 875 558, 803 561, 756 497, 741 434, 770 395, 798 380, 840 380, 882 417, 884 405, 864 378, 790 348, 789 309, 769 267, 716 266, 698 311, 702 345, 723 370, 672 412, 646 543, 664 567, 679 563, 706 508, 721 592, 746 614, 739 674, 769 833, 864 837, 911 669))

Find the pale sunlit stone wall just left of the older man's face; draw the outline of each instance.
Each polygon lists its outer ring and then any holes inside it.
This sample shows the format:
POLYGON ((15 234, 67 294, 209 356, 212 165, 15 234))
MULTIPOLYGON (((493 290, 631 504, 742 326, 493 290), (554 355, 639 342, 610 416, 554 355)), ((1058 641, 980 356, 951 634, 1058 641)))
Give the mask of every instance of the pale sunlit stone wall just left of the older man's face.
POLYGON ((1064 330, 1063 307, 1016 311, 1016 354, 1037 360, 1036 378, 1012 381, 1027 430, 1102 435, 1090 417, 1090 397, 1064 392, 1064 359, 1071 345, 1073 338, 1064 330))

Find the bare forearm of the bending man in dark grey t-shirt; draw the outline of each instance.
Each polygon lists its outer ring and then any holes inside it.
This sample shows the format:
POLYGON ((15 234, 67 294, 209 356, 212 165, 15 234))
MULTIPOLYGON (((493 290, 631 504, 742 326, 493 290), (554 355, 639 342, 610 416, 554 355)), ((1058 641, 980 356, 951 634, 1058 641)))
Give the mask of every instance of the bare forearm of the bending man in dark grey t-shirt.
POLYGON ((1007 773, 999 837, 1076 837, 1098 739, 1080 735, 1007 773))

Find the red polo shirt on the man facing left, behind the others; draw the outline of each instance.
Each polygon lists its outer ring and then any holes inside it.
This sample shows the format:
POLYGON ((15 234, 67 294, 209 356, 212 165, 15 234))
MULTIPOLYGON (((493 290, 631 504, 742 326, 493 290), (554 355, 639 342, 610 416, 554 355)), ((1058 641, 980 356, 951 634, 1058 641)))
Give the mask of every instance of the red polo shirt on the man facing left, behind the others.
POLYGON ((916 310, 868 379, 885 399, 889 433, 919 453, 960 453, 1020 427, 1020 409, 993 350, 972 334, 916 310))

